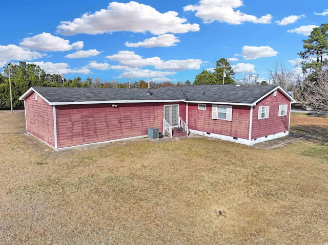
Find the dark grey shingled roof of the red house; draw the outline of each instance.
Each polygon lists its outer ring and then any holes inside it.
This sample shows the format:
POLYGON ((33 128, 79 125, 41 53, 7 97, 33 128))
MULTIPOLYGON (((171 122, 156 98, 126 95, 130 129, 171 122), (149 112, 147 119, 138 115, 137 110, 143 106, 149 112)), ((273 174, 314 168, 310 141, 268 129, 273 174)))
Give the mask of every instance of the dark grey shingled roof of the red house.
MULTIPOLYGON (((140 88, 66 88, 32 87, 49 102, 93 102, 115 100, 187 100, 232 104, 252 104, 278 86, 187 85, 160 87, 151 90, 140 88)), ((22 98, 25 99, 25 98, 22 98)))

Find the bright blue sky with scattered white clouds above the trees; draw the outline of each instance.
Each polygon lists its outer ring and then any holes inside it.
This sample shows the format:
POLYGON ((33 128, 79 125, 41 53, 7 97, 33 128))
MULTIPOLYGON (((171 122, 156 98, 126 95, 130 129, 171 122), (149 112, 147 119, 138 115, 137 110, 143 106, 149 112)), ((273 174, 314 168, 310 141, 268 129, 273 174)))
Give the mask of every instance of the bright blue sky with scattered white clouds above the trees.
MULTIPOLYGON (((3 1, 0 66, 32 62, 50 74, 101 81, 194 81, 216 60, 236 79, 268 80, 299 63, 302 39, 328 23, 326 0, 3 1)), ((3 69, 0 69, 3 71, 3 69)))

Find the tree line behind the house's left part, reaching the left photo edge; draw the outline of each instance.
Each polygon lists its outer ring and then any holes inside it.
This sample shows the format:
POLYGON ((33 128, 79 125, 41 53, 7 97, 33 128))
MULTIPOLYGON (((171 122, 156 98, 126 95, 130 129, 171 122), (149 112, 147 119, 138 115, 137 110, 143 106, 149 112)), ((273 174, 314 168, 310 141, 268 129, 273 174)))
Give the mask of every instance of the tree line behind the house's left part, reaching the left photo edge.
MULTIPOLYGON (((19 101, 22 96, 32 86, 47 87, 99 87, 99 88, 148 88, 148 82, 144 80, 134 82, 104 81, 100 78, 92 79, 88 77, 83 81, 80 77, 66 79, 59 74, 46 74, 46 72, 33 63, 19 61, 17 64, 8 64, 4 67, 4 74, 0 73, 0 109, 10 108, 10 87, 9 87, 9 70, 12 88, 12 103, 14 108, 23 108, 24 102, 19 101), (8 66, 10 65, 10 69, 8 66)), ((188 80, 185 83, 170 81, 150 82, 151 88, 167 86, 183 86, 191 84, 188 80)))

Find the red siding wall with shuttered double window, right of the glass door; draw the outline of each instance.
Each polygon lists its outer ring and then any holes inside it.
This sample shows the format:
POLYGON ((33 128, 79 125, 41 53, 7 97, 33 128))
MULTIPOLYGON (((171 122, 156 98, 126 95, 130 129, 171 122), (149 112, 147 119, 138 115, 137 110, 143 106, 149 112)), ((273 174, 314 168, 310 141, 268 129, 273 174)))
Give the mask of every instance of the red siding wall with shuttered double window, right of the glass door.
POLYGON ((212 104, 206 110, 199 110, 198 104, 188 104, 188 126, 203 132, 248 139, 250 125, 250 106, 233 106, 232 121, 212 119, 212 104))

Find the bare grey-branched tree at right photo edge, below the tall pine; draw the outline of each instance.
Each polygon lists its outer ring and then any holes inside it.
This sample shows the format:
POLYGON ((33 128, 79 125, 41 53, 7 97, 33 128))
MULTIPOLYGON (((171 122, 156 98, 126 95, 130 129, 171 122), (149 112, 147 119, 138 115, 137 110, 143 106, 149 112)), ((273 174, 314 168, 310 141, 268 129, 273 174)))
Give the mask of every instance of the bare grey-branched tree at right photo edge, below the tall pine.
POLYGON ((299 99, 306 107, 328 112, 328 73, 327 71, 318 71, 312 75, 315 81, 306 80, 304 82, 299 99))

